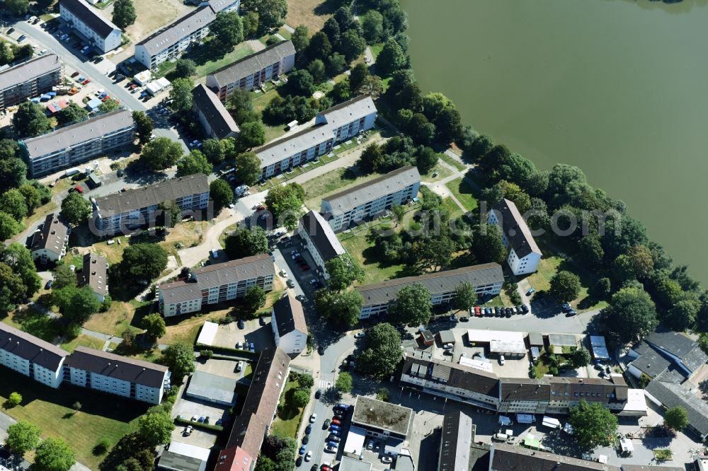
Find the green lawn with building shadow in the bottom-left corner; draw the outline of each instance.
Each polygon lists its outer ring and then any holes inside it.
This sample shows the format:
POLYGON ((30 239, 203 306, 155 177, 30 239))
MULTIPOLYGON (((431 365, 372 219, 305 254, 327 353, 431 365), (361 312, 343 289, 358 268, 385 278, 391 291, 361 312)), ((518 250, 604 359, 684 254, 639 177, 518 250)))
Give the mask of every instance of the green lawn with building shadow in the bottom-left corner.
POLYGON ((110 445, 137 429, 137 417, 149 407, 142 402, 122 400, 94 390, 62 385, 59 389, 49 388, 26 376, 0 370, 0 400, 4 402, 11 392, 22 395, 21 405, 4 412, 16 420, 26 420, 39 426, 42 437, 64 438, 76 451, 76 460, 98 470, 103 457, 91 453, 93 446, 102 438, 110 445), (81 411, 72 409, 74 402, 81 402, 81 411))

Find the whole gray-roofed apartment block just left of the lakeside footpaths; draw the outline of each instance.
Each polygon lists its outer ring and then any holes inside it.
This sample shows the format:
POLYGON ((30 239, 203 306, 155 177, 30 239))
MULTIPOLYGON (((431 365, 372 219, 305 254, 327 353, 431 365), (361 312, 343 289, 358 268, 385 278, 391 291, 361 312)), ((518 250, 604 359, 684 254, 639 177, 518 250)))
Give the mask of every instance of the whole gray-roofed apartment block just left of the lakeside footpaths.
POLYGON ((421 174, 409 165, 323 198, 320 212, 340 231, 415 198, 420 187, 421 174))

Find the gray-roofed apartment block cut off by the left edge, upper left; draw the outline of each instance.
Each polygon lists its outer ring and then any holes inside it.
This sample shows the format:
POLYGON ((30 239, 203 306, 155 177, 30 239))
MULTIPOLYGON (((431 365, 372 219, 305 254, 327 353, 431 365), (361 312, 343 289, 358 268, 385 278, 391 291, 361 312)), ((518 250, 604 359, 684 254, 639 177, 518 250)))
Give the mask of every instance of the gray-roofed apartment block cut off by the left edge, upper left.
POLYGON ((0 71, 0 111, 51 91, 61 83, 63 68, 57 54, 47 54, 0 71))

